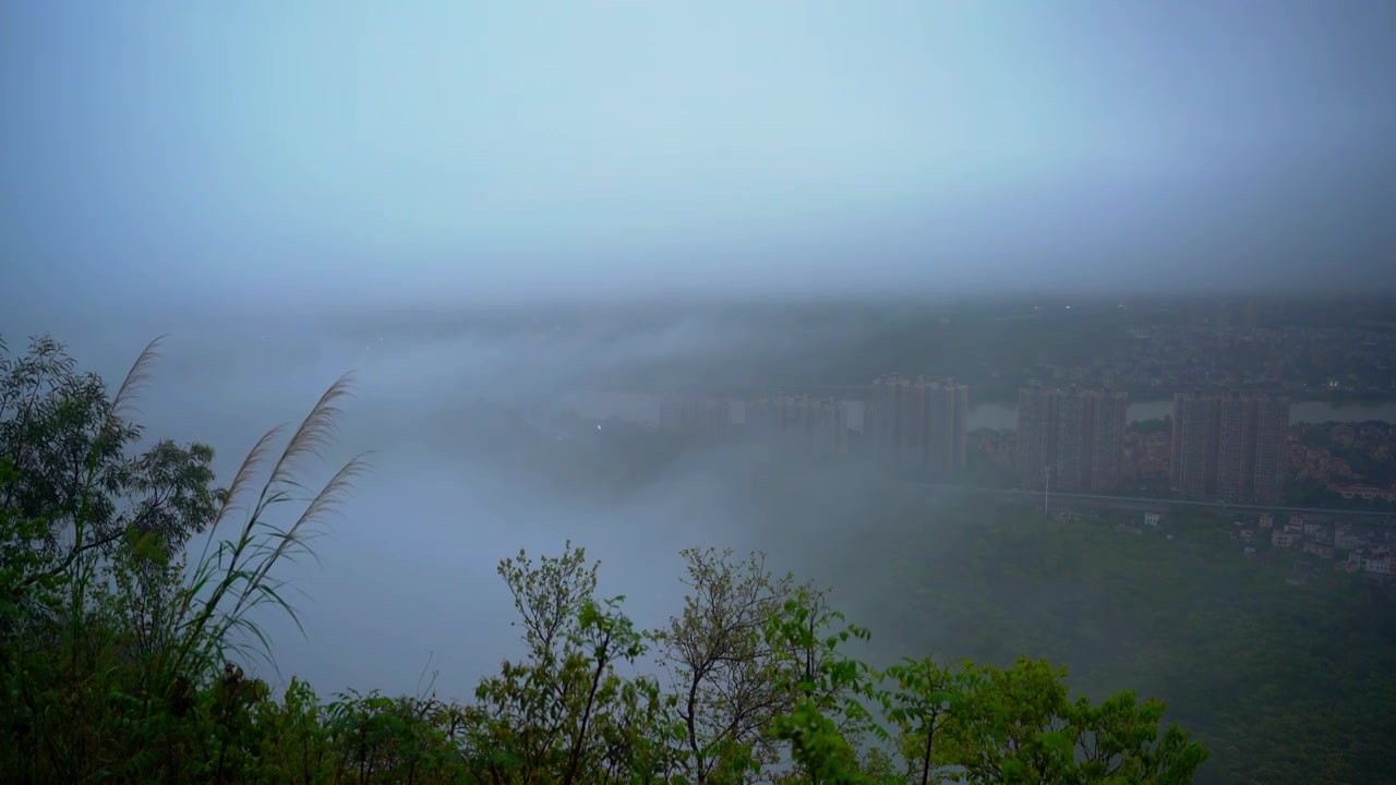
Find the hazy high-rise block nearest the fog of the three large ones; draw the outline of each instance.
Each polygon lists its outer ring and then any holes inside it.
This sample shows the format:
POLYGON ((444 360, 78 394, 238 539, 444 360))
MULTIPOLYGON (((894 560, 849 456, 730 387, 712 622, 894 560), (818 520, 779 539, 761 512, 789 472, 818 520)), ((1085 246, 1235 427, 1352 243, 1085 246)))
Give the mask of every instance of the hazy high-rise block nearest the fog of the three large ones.
POLYGON ((965 467, 969 387, 885 376, 872 384, 864 432, 886 462, 949 479, 965 467))

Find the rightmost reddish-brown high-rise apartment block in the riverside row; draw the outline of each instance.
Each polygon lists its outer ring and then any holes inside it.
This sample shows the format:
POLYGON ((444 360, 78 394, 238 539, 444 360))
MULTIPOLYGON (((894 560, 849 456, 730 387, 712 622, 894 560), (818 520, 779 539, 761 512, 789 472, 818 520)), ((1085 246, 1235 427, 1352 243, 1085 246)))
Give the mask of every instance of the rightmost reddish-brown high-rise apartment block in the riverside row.
POLYGON ((1173 397, 1170 485, 1226 501, 1280 501, 1289 468, 1290 399, 1268 394, 1173 397))

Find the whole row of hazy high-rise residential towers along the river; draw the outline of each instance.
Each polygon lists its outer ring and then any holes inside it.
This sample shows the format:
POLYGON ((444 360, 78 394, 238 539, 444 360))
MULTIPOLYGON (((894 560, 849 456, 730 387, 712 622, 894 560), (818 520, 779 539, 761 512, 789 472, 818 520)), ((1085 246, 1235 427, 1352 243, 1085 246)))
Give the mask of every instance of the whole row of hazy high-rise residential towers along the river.
MULTIPOLYGON (((669 398, 671 429, 750 433, 814 451, 845 453, 861 430, 863 451, 902 472, 953 480, 966 464, 969 388, 953 380, 885 376, 864 395, 861 427, 849 401, 776 395, 734 404, 669 398)), ((1018 397, 1016 469, 1023 487, 1104 493, 1120 486, 1129 397, 1082 387, 1025 387, 1018 397)), ((1173 401, 1170 485, 1181 496, 1279 501, 1289 461, 1289 398, 1180 392, 1173 401)))

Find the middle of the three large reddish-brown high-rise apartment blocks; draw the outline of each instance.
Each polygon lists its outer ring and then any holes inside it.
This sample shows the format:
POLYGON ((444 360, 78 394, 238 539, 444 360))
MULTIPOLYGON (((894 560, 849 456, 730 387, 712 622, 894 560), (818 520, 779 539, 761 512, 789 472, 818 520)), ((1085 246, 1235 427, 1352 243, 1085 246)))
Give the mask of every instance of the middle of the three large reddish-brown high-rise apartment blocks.
POLYGON ((1018 391, 1018 468, 1026 487, 1111 490, 1124 453, 1125 392, 1025 387, 1018 391))

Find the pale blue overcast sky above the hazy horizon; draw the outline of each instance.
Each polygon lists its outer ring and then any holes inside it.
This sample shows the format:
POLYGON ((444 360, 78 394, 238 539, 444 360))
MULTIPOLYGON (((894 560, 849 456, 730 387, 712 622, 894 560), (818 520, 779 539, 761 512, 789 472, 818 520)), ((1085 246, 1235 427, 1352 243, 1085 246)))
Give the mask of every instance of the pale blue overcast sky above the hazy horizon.
POLYGON ((1396 6, 0 6, 0 306, 1364 289, 1396 6))

